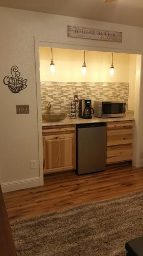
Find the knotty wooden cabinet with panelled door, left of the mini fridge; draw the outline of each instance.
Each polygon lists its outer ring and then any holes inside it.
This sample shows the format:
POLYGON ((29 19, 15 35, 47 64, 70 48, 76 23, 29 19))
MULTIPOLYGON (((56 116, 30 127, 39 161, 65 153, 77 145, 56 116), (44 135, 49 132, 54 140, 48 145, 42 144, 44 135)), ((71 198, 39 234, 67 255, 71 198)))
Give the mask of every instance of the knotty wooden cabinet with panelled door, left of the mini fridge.
POLYGON ((75 169, 75 125, 43 128, 44 174, 75 169))

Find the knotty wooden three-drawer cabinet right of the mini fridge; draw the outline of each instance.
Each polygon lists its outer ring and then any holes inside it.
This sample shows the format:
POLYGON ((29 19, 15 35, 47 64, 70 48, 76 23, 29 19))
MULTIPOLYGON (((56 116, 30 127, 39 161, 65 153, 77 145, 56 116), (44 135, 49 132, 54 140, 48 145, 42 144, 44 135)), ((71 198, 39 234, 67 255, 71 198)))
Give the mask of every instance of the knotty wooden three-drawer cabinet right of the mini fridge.
POLYGON ((132 160, 133 121, 107 123, 106 163, 132 160))

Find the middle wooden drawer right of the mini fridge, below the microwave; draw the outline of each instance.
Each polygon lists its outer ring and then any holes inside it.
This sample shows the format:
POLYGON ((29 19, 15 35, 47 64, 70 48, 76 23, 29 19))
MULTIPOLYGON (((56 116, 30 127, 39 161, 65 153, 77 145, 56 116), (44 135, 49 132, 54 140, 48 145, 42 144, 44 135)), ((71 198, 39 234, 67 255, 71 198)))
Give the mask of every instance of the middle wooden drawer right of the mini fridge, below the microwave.
POLYGON ((107 146, 131 144, 132 128, 107 130, 107 146))

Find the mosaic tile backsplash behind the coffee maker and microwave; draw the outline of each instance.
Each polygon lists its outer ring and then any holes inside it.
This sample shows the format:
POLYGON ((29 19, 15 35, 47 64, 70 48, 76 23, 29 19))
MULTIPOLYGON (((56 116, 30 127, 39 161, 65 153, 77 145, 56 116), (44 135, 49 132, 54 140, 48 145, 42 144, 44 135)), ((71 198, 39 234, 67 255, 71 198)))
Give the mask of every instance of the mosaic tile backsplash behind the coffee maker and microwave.
POLYGON ((87 83, 87 82, 41 82, 42 113, 47 111, 51 102, 51 110, 70 113, 70 102, 74 95, 80 99, 121 100, 128 109, 129 83, 87 83))

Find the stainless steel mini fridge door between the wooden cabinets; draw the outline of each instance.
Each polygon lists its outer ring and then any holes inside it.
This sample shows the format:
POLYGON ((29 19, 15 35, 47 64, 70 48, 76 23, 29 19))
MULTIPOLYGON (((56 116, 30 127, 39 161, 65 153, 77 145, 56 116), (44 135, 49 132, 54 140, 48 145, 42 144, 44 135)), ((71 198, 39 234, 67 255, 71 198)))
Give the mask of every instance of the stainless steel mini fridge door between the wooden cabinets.
POLYGON ((106 124, 77 125, 77 174, 88 174, 105 169, 106 124))

